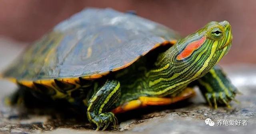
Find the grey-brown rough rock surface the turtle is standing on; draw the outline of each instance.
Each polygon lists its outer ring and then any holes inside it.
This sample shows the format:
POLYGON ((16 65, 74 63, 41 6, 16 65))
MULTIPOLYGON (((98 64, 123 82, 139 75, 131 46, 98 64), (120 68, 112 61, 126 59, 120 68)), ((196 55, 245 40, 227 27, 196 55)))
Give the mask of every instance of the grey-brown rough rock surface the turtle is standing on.
MULTIPOLYGON (((1 44, 0 44, 1 45, 1 44)), ((1 46, 0 46, 1 47, 1 46)), ((0 70, 20 51, 16 47, 1 47, 0 70), (5 48, 5 49, 2 49, 5 48), (11 49, 10 49, 11 48, 11 49), (12 53, 11 53, 12 52, 12 53)), ((224 69, 243 95, 232 102, 232 108, 211 109, 196 89, 197 96, 187 101, 162 107, 150 107, 118 115, 119 128, 104 133, 141 134, 250 134, 256 132, 256 66, 233 65, 224 69), (206 125, 204 120, 211 118, 215 125, 206 125), (218 120, 247 120, 247 126, 217 125, 218 120)), ((3 100, 16 89, 16 85, 0 81, 0 133, 3 134, 99 134, 84 119, 84 115, 72 112, 63 106, 8 107, 3 100), (82 118, 82 119, 81 119, 82 118)))

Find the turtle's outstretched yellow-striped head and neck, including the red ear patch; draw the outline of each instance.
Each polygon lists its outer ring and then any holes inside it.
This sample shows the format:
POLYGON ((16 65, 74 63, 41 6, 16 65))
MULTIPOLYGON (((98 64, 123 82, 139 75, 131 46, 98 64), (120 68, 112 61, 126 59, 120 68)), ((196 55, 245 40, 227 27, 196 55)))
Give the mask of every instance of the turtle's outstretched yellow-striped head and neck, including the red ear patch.
POLYGON ((145 93, 163 96, 178 93, 179 89, 208 73, 228 52, 231 42, 228 21, 212 21, 180 39, 173 47, 159 54, 156 68, 146 73, 148 86, 157 92, 145 93))

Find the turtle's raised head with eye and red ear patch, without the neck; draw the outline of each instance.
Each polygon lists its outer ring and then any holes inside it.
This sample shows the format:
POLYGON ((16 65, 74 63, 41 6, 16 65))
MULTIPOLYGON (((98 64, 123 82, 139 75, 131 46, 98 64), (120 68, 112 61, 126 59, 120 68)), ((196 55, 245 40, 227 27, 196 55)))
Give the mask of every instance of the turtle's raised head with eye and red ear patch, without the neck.
POLYGON ((202 77, 228 52, 232 39, 228 21, 212 21, 174 45, 172 62, 198 68, 195 78, 202 77))

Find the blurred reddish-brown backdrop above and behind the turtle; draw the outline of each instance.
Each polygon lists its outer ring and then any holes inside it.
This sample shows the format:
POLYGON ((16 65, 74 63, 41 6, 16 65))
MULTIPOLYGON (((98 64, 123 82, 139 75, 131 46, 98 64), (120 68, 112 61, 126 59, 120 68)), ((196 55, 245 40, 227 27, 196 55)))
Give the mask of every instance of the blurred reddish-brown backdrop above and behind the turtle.
POLYGON ((184 36, 209 21, 228 20, 234 41, 222 64, 256 63, 256 0, 2 0, 0 35, 31 42, 84 7, 136 10, 184 36))

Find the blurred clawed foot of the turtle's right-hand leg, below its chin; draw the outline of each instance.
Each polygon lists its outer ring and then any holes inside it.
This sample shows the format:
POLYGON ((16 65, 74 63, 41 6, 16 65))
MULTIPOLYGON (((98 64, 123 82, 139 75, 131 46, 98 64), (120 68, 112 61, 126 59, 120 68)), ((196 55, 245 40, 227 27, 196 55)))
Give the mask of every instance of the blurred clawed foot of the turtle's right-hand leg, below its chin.
POLYGON ((205 93, 206 101, 212 106, 212 103, 214 104, 214 109, 217 109, 217 104, 225 104, 228 108, 231 108, 229 105, 229 102, 234 100, 237 103, 237 101, 234 97, 236 96, 236 91, 228 91, 228 93, 225 93, 225 91, 220 91, 220 92, 213 92, 213 93, 205 93))

